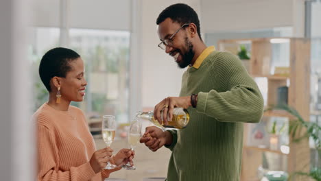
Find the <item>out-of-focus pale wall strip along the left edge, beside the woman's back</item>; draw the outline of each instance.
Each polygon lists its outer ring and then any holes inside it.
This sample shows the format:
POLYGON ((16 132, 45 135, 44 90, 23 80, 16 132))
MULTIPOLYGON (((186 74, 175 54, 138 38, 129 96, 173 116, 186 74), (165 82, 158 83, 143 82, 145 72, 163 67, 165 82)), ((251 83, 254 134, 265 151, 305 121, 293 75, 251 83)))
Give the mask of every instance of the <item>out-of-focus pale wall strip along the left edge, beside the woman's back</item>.
POLYGON ((35 180, 25 51, 27 0, 0 1, 0 180, 35 180))

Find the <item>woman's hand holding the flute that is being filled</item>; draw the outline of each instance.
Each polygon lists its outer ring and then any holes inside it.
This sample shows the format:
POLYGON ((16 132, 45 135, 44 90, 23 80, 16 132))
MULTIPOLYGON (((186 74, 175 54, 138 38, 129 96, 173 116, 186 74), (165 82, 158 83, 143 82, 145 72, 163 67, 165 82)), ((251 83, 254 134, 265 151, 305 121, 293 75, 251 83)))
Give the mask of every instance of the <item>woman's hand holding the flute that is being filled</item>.
POLYGON ((119 150, 117 154, 112 156, 112 162, 117 166, 126 165, 128 161, 130 162, 130 165, 134 165, 132 162, 134 155, 135 152, 133 150, 123 148, 119 150))

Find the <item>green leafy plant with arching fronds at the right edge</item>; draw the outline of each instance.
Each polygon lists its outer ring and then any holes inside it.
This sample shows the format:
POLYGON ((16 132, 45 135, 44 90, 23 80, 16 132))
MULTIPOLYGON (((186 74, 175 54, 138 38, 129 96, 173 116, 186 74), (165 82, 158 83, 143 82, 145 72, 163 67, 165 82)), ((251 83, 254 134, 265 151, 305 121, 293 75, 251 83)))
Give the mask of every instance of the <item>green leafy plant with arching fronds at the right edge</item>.
POLYGON ((294 108, 288 106, 287 104, 280 104, 277 106, 272 106, 268 108, 267 110, 285 110, 289 112, 289 114, 292 114, 296 119, 292 120, 291 124, 289 125, 289 136, 292 136, 292 141, 294 143, 298 143, 306 138, 312 138, 314 141, 314 145, 316 147, 316 156, 317 156, 317 166, 311 166, 311 169, 309 172, 303 172, 303 171, 296 171, 291 174, 289 177, 289 180, 293 176, 307 176, 313 180, 320 181, 321 180, 321 167, 320 166, 320 156, 321 156, 321 127, 318 125, 318 123, 305 121, 301 115, 298 113, 297 110, 294 108), (304 133, 304 134, 301 134, 304 133), (298 136, 300 135, 300 136, 298 136))

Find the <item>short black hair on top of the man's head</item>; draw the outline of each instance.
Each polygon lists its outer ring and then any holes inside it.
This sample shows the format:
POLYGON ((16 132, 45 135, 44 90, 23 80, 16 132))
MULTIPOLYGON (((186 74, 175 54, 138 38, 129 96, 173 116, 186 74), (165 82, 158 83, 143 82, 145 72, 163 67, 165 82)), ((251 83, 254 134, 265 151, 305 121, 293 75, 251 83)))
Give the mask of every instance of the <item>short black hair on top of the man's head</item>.
POLYGON ((175 23, 180 23, 180 25, 184 25, 185 23, 194 23, 198 30, 198 36, 200 36, 200 39, 202 40, 198 14, 189 5, 185 3, 169 5, 169 7, 163 10, 163 12, 160 12, 156 20, 156 24, 159 25, 167 18, 170 18, 175 23))

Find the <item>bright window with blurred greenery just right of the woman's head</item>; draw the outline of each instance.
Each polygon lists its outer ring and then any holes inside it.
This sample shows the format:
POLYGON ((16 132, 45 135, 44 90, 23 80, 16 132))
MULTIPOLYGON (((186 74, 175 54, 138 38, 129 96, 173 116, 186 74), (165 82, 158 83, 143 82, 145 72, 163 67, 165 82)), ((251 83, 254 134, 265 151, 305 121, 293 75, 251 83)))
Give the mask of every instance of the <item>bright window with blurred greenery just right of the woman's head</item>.
POLYGON ((69 40, 84 60, 88 82, 84 101, 74 105, 90 117, 112 114, 128 122, 130 32, 70 29, 69 40))

